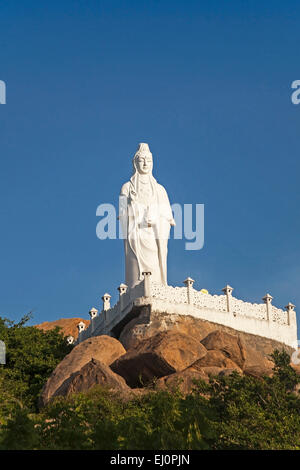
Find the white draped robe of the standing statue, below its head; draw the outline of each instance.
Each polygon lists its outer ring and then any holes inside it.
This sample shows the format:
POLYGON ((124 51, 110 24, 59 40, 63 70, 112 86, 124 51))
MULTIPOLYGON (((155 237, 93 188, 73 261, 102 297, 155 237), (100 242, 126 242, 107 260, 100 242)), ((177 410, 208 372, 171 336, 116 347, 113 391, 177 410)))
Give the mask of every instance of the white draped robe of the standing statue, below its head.
POLYGON ((120 213, 125 247, 125 282, 134 287, 151 272, 151 279, 167 284, 167 253, 172 209, 165 188, 152 175, 136 172, 122 186, 120 213))

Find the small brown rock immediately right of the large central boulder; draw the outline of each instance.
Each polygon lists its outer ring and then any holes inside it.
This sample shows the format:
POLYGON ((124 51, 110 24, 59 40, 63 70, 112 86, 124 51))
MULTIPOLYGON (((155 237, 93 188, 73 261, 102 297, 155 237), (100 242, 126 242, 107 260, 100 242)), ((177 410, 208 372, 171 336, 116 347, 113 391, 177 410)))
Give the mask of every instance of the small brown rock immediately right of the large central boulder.
POLYGON ((241 369, 245 363, 245 347, 238 336, 231 335, 224 331, 213 331, 201 343, 206 349, 218 349, 241 369))

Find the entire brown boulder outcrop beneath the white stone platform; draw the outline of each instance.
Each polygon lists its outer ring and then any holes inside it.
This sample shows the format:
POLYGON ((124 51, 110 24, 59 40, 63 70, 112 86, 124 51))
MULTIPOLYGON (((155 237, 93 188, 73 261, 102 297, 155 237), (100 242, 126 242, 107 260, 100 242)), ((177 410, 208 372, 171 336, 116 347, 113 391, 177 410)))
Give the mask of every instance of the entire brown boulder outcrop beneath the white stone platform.
MULTIPOLYGON (((276 341, 188 316, 152 312, 147 319, 147 309, 124 327, 120 339, 130 346, 127 351, 109 336, 92 337, 77 345, 50 376, 41 406, 53 396, 86 391, 97 384, 133 397, 146 393, 143 387, 149 384, 153 390, 179 386, 188 393, 195 379, 208 383, 211 376, 233 372, 256 378, 272 376, 270 354, 274 349, 290 352, 276 341)), ((298 369, 300 373, 300 366, 298 369)))

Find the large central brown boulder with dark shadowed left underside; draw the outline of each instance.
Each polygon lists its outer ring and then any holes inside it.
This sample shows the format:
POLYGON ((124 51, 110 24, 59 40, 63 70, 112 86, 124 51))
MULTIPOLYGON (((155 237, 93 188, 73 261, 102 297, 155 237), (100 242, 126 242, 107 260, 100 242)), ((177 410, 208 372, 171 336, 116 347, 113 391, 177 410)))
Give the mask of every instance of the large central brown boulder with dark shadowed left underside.
POLYGON ((185 369, 205 354, 206 349, 196 339, 165 331, 138 343, 110 367, 130 387, 140 387, 155 377, 185 369))

